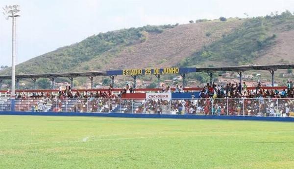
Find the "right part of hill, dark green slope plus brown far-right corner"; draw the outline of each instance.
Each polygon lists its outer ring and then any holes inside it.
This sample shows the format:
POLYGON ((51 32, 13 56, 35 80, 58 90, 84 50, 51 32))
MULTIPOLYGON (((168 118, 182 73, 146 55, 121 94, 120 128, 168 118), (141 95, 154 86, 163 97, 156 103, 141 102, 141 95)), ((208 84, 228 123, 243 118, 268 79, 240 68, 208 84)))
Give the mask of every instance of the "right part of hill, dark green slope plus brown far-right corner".
POLYGON ((293 30, 294 16, 289 11, 248 19, 239 29, 223 35, 222 39, 209 46, 203 46, 180 65, 291 62, 293 30))

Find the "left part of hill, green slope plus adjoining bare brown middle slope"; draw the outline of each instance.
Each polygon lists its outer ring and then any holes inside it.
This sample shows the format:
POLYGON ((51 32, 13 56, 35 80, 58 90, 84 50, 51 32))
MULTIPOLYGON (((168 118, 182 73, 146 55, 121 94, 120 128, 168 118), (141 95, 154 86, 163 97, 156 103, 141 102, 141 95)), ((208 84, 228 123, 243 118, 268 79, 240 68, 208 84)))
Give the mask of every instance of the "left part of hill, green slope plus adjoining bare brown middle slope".
MULTIPOLYGON (((172 66, 243 21, 144 26, 99 33, 16 66, 17 74, 172 66), (209 31, 210 37, 205 36, 209 31), (220 29, 218 29, 220 28, 220 29)), ((0 71, 9 74, 10 69, 0 71)))

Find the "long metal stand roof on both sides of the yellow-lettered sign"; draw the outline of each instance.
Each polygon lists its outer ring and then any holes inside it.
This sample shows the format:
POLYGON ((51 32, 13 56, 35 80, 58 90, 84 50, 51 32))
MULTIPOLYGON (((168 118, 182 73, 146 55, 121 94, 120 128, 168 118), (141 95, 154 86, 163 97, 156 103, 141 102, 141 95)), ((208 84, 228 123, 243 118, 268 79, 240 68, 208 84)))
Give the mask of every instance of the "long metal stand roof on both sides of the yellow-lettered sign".
MULTIPOLYGON (((250 71, 250 70, 278 70, 294 69, 294 64, 273 64, 273 65, 246 65, 230 67, 203 67, 196 68, 196 72, 217 72, 217 71, 250 71)), ((91 77, 91 76, 108 76, 108 71, 95 72, 77 72, 77 73, 51 73, 51 74, 27 74, 16 75, 17 79, 34 79, 34 78, 68 78, 68 77, 91 77)), ((119 75, 119 74, 118 74, 119 75)), ((11 79, 11 75, 0 75, 0 79, 11 79)))

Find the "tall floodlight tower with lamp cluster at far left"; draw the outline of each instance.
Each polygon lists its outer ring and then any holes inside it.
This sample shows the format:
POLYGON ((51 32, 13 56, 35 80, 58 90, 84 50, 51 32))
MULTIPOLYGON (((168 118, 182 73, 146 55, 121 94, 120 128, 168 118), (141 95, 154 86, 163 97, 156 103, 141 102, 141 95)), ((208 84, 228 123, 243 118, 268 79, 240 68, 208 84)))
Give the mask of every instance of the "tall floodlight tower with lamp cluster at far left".
POLYGON ((6 20, 9 18, 12 18, 12 66, 11 66, 11 71, 12 71, 12 77, 11 77, 11 98, 15 97, 15 61, 16 61, 16 41, 15 41, 15 18, 20 17, 20 15, 16 15, 19 10, 19 5, 9 5, 3 7, 3 14, 6 16, 6 20))

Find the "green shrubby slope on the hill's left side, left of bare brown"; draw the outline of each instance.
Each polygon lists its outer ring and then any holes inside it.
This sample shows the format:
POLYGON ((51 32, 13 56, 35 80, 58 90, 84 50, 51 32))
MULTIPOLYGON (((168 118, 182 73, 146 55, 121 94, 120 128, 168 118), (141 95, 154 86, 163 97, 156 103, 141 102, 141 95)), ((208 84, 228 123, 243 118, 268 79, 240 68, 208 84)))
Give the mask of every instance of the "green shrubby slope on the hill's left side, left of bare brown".
MULTIPOLYGON (((135 43, 144 42, 147 33, 159 34, 165 29, 176 25, 144 26, 139 28, 122 29, 106 33, 99 33, 70 46, 61 47, 55 51, 33 58, 16 66, 17 74, 28 73, 58 73, 70 72, 82 63, 98 59, 100 64, 107 61, 107 56, 101 54, 115 54, 121 48, 135 43)), ((87 71, 87 66, 83 67, 87 71)), ((99 67, 98 67, 99 69, 99 67)), ((9 74, 10 68, 0 71, 9 74)))

